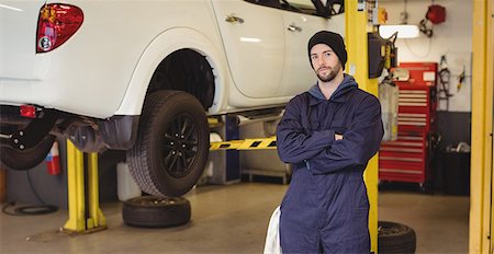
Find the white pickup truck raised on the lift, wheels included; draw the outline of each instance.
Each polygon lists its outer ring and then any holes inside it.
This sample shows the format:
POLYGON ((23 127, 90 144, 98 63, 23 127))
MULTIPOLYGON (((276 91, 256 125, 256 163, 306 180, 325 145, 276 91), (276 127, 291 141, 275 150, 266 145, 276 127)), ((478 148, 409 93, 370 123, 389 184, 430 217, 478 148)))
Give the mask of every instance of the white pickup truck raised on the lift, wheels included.
MULTIPOLYGON (((180 196, 207 116, 283 106, 315 81, 306 45, 343 0, 0 0, 0 157, 29 170, 63 136, 127 151, 141 188, 180 196)), ((262 109, 262 111, 259 111, 262 109)))

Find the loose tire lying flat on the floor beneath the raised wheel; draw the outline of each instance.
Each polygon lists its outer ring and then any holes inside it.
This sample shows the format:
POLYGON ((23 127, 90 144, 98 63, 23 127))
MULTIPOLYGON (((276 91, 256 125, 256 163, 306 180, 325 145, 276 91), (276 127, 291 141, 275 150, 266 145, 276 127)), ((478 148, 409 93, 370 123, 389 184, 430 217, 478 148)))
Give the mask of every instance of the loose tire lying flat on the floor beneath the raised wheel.
POLYGON ((190 221, 190 203, 182 197, 134 197, 124 201, 123 221, 133 227, 165 228, 190 221))

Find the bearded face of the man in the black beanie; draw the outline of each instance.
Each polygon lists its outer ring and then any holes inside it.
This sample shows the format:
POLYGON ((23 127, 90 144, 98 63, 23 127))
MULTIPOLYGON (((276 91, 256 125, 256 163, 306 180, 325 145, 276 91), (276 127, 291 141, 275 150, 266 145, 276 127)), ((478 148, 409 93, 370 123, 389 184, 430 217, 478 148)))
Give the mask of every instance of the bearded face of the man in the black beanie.
POLYGON ((317 78, 323 82, 329 82, 343 71, 338 56, 326 44, 316 44, 311 49, 311 64, 317 78))

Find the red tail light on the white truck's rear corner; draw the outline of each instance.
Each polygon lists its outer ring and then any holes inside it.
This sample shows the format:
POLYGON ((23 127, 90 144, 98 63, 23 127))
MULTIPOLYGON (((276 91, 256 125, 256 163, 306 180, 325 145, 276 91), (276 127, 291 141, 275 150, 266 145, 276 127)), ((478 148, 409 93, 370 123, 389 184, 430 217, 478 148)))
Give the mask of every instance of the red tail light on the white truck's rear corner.
POLYGON ((36 53, 47 53, 64 44, 79 30, 83 19, 82 10, 75 5, 43 5, 37 20, 36 53))

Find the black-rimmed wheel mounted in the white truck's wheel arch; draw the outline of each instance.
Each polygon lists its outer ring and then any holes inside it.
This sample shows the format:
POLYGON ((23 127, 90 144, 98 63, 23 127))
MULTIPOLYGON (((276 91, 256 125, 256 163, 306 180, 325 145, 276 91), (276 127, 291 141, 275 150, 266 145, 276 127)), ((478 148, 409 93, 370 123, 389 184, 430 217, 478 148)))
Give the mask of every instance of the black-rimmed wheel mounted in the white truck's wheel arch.
POLYGON ((201 103, 186 92, 157 91, 144 103, 127 162, 143 192, 178 197, 201 177, 209 150, 210 131, 201 103))

